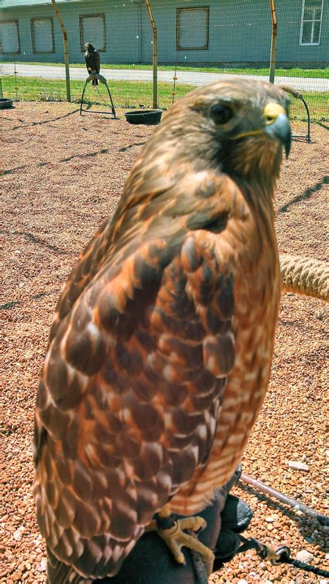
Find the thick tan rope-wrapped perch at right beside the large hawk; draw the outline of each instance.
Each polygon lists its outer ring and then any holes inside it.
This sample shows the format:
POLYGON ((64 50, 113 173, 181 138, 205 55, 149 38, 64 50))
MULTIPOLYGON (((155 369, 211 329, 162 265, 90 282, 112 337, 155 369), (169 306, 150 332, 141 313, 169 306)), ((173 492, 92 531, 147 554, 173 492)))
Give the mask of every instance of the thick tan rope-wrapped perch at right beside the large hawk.
POLYGON ((329 301, 329 264, 310 257, 280 254, 282 289, 329 301))

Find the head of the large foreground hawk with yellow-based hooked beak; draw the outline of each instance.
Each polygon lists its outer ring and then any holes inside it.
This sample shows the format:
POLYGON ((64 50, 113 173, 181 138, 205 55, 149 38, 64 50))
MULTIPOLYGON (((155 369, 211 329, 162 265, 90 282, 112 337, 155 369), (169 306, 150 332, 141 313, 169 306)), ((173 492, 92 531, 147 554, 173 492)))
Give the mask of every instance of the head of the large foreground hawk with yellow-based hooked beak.
POLYGON ((201 168, 232 176, 276 177, 291 144, 289 99, 270 83, 228 80, 181 98, 165 117, 163 138, 201 168))

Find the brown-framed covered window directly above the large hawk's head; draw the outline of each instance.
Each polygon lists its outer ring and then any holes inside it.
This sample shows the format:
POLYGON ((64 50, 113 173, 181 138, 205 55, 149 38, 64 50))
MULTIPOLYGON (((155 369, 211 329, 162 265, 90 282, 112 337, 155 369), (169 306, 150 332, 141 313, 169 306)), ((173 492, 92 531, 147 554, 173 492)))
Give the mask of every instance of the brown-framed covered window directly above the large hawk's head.
POLYGON ((209 8, 177 8, 176 46, 178 51, 208 49, 209 8))

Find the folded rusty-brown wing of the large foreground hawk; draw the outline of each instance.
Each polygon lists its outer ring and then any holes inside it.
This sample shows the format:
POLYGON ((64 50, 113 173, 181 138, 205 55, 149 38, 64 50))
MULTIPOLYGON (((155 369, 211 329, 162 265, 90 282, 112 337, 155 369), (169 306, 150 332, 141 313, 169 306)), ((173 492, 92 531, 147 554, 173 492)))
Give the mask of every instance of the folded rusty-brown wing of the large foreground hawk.
POLYGON ((78 572, 117 572, 207 459, 234 361, 233 280, 213 243, 205 230, 175 246, 155 239, 104 266, 51 341, 37 399, 38 521, 78 572))

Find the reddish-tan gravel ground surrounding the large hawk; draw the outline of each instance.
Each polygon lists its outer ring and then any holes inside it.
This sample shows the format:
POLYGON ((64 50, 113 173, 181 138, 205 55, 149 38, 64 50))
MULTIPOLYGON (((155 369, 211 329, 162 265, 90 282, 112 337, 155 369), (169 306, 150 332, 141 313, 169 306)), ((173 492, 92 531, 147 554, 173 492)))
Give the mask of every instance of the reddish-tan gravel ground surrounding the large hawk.
MULTIPOLYGON (((129 126, 120 117, 79 117, 76 106, 65 103, 17 103, 1 113, 1 583, 46 579, 31 495, 37 377, 62 284, 85 243, 115 209, 135 157, 153 131, 129 126)), ((305 126, 294 130, 305 132, 305 126)), ((328 259, 328 132, 312 126, 311 133, 312 144, 294 142, 284 163, 276 194, 278 243, 280 252, 328 259)), ((282 296, 269 392, 244 456, 246 474, 319 513, 326 513, 326 308, 319 300, 282 296), (288 461, 305 463, 308 470, 294 470, 288 461)), ((294 557, 307 550, 315 565, 328 569, 328 528, 242 483, 235 492, 255 510, 250 535, 274 545, 287 543, 294 557)), ((329 582, 290 567, 272 567, 252 552, 237 556, 210 581, 329 582)))

